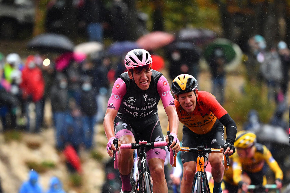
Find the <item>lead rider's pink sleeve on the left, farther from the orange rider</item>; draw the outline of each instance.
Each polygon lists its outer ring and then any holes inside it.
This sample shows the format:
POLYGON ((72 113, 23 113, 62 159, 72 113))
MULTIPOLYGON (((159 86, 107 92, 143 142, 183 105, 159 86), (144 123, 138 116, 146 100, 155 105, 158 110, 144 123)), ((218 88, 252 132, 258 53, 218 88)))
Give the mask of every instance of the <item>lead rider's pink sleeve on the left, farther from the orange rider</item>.
POLYGON ((115 109, 118 111, 121 105, 122 98, 126 94, 126 91, 127 87, 125 82, 121 78, 118 78, 114 83, 111 96, 108 100, 107 109, 115 109))

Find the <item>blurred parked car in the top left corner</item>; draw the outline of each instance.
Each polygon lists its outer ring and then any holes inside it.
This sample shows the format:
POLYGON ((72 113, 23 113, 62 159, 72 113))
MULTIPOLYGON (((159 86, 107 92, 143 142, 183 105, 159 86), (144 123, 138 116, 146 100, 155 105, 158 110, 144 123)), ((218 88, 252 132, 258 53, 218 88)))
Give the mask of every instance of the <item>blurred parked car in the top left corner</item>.
POLYGON ((33 0, 0 0, 1 39, 15 38, 23 30, 26 33, 32 32, 35 16, 33 2, 33 0))

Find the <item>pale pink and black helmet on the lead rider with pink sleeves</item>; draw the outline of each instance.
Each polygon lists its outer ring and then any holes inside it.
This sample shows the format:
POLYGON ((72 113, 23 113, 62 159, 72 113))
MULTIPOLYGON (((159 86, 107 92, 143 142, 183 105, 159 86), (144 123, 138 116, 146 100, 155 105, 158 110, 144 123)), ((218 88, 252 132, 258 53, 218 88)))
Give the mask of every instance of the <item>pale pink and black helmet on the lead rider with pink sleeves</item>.
POLYGON ((149 52, 144 49, 133 49, 126 54, 124 62, 126 68, 130 70, 135 67, 152 64, 152 58, 149 52))

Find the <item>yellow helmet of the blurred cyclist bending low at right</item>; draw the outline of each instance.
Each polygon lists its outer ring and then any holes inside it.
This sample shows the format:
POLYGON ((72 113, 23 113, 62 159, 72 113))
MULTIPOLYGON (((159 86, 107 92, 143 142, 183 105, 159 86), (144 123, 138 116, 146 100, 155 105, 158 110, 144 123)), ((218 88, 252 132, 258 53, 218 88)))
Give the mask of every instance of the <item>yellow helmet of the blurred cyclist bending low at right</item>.
POLYGON ((237 148, 249 148, 252 147, 256 143, 256 134, 250 131, 239 131, 236 135, 236 141, 234 146, 237 148))

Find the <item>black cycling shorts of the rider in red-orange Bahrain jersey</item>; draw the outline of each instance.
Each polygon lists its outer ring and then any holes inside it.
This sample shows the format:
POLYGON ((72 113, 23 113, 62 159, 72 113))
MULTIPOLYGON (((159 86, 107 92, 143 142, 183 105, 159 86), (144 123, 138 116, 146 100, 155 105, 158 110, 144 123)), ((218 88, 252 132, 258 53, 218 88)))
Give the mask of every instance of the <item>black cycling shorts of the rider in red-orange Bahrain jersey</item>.
MULTIPOLYGON (((207 148, 220 149, 224 146, 224 125, 219 122, 216 128, 211 129, 207 134, 196 134, 188 127, 182 128, 182 147, 196 148, 205 145, 207 148)), ((181 152, 182 163, 197 160, 198 153, 181 152)))

